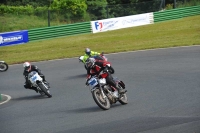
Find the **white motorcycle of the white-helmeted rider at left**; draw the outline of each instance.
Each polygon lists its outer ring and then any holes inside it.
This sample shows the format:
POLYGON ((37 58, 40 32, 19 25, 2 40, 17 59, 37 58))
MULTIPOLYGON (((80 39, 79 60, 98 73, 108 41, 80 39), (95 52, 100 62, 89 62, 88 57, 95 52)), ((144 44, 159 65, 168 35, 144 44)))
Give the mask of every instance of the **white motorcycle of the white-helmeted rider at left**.
POLYGON ((38 92, 41 95, 47 95, 49 98, 52 97, 49 91, 49 85, 48 83, 44 83, 42 77, 36 72, 32 71, 28 74, 28 79, 31 82, 33 87, 36 87, 38 89, 38 92))

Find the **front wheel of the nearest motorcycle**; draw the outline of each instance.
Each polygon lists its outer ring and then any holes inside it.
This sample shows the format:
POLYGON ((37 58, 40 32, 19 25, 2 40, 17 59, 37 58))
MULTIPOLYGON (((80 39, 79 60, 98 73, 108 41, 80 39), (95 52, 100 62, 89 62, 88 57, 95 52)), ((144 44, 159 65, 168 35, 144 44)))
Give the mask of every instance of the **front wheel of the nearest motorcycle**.
POLYGON ((92 96, 96 104, 103 110, 110 109, 110 101, 107 97, 103 98, 101 91, 96 89, 92 92, 92 96))

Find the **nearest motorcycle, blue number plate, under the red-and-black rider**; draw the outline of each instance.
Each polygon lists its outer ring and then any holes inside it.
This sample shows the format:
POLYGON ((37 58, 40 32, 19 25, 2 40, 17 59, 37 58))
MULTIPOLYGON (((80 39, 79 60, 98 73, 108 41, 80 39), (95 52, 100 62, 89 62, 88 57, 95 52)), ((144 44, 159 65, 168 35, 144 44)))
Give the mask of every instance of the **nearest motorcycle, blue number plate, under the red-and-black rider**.
MULTIPOLYGON (((94 101, 103 110, 110 109, 111 104, 114 104, 117 101, 119 101, 122 105, 128 103, 126 93, 119 94, 116 88, 106 83, 105 77, 107 74, 108 73, 102 73, 101 79, 98 78, 99 76, 93 76, 87 82, 91 88, 94 101)), ((119 88, 125 89, 125 84, 123 81, 119 80, 117 77, 113 79, 119 88)))

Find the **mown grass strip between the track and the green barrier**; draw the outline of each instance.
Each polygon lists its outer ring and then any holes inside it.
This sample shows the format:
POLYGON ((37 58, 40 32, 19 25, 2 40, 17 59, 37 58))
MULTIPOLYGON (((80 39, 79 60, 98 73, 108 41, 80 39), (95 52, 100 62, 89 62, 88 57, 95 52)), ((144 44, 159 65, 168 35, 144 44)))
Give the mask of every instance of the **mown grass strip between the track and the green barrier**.
POLYGON ((153 48, 200 45, 200 15, 139 27, 84 34, 0 47, 8 64, 78 57, 86 47, 115 53, 153 48))

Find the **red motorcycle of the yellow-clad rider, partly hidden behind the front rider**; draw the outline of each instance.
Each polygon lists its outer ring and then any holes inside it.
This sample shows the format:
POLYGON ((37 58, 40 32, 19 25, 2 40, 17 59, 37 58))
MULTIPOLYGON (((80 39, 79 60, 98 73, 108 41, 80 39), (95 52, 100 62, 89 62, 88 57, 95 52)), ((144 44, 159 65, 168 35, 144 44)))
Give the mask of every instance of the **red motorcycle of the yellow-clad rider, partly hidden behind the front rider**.
MULTIPOLYGON (((82 63, 84 64, 84 67, 85 67, 85 69, 87 70, 87 66, 86 66, 85 63, 83 62, 83 58, 84 58, 84 56, 80 56, 80 57, 79 57, 79 61, 82 62, 82 63)), ((108 62, 108 58, 107 58, 105 55, 103 55, 103 54, 97 55, 97 56, 91 56, 90 58, 94 58, 95 60, 101 60, 101 61, 104 61, 104 62, 108 62)), ((111 64, 111 63, 109 62, 109 64, 111 64)), ((114 73, 115 73, 115 70, 114 70, 114 68, 113 68, 111 65, 110 65, 110 67, 109 67, 109 72, 110 72, 111 74, 114 74, 114 73)))

